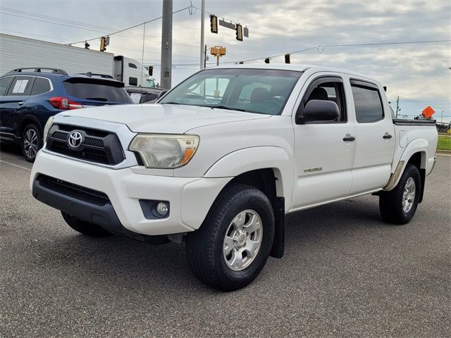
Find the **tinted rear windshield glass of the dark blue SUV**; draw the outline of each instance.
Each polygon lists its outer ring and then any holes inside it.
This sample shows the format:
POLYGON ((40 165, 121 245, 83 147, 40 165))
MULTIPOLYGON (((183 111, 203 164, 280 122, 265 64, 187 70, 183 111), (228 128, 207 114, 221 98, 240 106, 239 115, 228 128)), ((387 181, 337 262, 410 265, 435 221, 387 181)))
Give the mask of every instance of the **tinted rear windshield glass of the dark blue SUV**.
POLYGON ((82 100, 101 102, 131 102, 130 96, 123 87, 115 87, 116 83, 92 79, 71 79, 63 82, 64 89, 70 96, 82 100))

